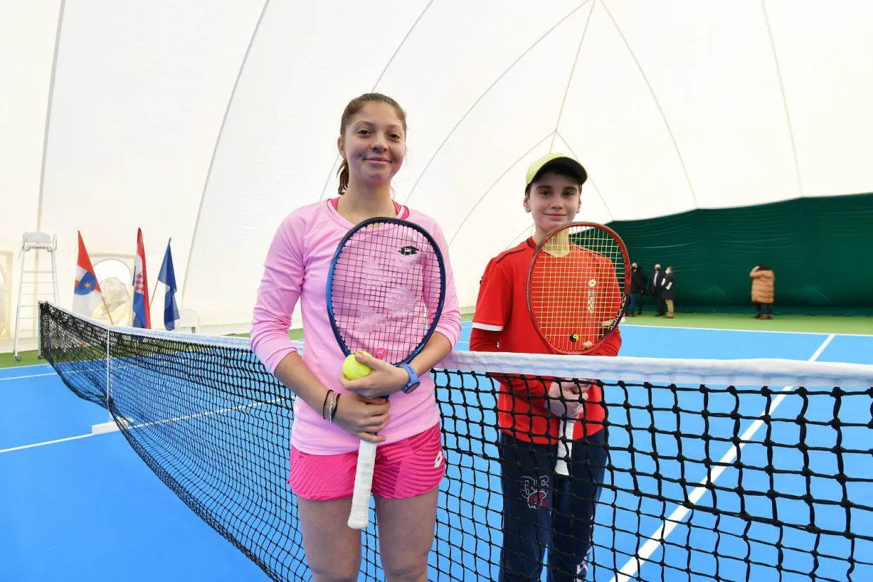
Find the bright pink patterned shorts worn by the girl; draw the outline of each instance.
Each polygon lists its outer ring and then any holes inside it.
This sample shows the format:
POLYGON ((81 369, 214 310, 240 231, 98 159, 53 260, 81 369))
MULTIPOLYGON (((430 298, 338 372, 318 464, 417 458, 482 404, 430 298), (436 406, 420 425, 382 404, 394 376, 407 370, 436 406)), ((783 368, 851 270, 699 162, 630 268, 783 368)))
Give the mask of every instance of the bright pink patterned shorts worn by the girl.
MULTIPOLYGON (((288 484, 295 495, 313 501, 344 499, 354 490, 358 451, 342 455, 309 455, 291 448, 288 484)), ((376 447, 373 495, 406 499, 436 487, 445 473, 439 424, 402 441, 376 447)))

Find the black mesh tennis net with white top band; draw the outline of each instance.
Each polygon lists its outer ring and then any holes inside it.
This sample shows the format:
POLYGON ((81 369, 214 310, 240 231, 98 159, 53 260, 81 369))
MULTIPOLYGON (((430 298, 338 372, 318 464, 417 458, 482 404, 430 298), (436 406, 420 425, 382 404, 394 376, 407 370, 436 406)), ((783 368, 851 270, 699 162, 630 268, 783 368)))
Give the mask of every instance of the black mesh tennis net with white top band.
MULTIPOLYGON (((113 327, 47 303, 39 331, 65 385, 106 407, 205 523, 269 578, 309 578, 286 481, 293 394, 248 339, 113 327)), ((498 380, 519 374, 603 388, 587 579, 873 579, 873 366, 463 352, 440 366, 448 464, 430 580, 498 578, 498 380)), ((363 543, 361 579, 384 579, 375 519, 363 543)))

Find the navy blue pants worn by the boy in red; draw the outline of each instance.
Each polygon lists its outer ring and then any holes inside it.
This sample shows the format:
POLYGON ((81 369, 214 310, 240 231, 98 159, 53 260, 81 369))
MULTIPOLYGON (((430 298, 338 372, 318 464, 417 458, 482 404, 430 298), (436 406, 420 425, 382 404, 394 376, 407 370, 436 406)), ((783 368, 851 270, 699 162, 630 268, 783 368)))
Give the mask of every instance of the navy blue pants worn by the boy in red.
POLYGON ((556 445, 500 434, 503 549, 499 582, 540 580, 548 548, 549 582, 584 580, 595 504, 607 461, 607 428, 574 441, 569 476, 554 472, 556 445))

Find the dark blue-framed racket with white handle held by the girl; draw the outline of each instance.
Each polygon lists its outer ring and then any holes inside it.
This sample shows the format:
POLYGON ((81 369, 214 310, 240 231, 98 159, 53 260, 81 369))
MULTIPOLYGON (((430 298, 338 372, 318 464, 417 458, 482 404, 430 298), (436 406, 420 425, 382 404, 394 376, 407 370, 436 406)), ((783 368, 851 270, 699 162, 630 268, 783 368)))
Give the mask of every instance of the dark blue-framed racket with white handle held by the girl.
MULTIPOLYGON (((443 312, 445 264, 433 237, 399 218, 348 231, 327 274, 327 314, 342 353, 409 364, 443 312)), ((361 441, 348 526, 367 527, 376 445, 361 441)))

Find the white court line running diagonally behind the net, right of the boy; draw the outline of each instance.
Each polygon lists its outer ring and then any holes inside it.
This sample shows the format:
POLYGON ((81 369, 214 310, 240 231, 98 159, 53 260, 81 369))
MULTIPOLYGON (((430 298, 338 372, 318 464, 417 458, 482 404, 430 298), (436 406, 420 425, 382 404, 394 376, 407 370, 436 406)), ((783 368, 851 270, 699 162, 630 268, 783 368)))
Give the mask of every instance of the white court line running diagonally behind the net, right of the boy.
MULTIPOLYGON (((810 362, 814 362, 818 357, 824 352, 824 349, 828 347, 828 344, 832 339, 834 339, 835 334, 831 333, 828 335, 828 338, 821 342, 821 346, 815 350, 815 353, 808 359, 810 362)), ((755 435, 756 432, 763 426, 764 421, 761 420, 761 416, 764 414, 773 414, 776 411, 776 408, 785 400, 786 392, 791 390, 793 386, 787 386, 782 388, 780 394, 773 399, 773 406, 769 407, 769 409, 765 409, 758 415, 758 418, 746 428, 746 431, 742 436, 739 437, 739 448, 732 447, 728 448, 727 452, 721 459, 718 461, 718 465, 712 469, 711 476, 706 476, 700 482, 698 487, 691 491, 691 495, 688 496, 688 501, 692 504, 698 503, 700 497, 704 496, 706 492, 707 483, 715 483, 715 480, 718 479, 719 476, 727 469, 726 465, 732 463, 739 454, 739 450, 742 450, 743 447, 746 446, 747 442, 750 442, 755 435)), ((690 511, 689 508, 684 505, 679 505, 673 512, 670 514, 670 517, 667 517, 661 527, 657 529, 655 533, 651 535, 649 539, 646 540, 646 543, 643 544, 643 547, 636 553, 636 556, 630 558, 627 564, 619 571, 618 575, 612 579, 612 582, 627 582, 629 579, 636 576, 636 572, 639 572, 640 568, 643 567, 643 564, 648 561, 652 553, 654 553, 657 548, 663 543, 663 540, 670 535, 670 532, 673 531, 678 524, 684 520, 685 516, 690 511)))

